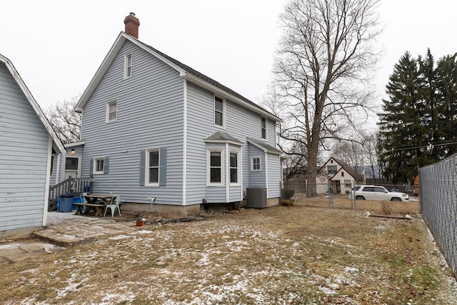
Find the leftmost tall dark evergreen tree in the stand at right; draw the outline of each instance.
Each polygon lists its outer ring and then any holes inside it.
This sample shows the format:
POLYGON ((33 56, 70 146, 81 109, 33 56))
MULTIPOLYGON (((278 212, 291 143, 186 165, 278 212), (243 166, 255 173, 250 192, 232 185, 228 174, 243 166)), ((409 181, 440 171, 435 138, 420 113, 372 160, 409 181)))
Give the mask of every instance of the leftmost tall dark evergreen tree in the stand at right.
POLYGON ((418 145, 421 132, 418 110, 423 109, 423 101, 418 92, 418 76, 418 62, 406 52, 394 66, 386 86, 388 99, 383 99, 383 113, 379 114, 379 161, 383 176, 393 183, 407 183, 418 171, 418 151, 405 149, 418 145))

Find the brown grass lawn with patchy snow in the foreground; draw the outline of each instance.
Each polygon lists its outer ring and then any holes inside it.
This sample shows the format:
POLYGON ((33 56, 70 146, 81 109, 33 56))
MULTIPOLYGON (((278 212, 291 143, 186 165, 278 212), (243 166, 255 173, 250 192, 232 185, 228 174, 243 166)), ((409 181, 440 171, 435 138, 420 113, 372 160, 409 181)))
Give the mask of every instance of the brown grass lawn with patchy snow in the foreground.
POLYGON ((0 304, 457 304, 426 225, 274 206, 0 265, 0 304))

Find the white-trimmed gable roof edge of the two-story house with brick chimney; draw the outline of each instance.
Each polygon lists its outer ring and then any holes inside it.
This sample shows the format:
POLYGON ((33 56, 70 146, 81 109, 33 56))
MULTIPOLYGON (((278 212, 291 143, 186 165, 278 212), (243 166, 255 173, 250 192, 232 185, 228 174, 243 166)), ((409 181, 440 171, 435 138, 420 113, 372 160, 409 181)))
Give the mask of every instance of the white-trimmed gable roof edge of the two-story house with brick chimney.
POLYGON ((116 54, 119 52, 121 47, 124 45, 124 42, 127 40, 131 41, 133 44, 136 44, 141 49, 144 49, 145 51, 149 52, 151 55, 156 56, 156 58, 160 59, 161 61, 164 61, 165 64, 168 64, 176 71, 179 71, 179 74, 182 78, 187 79, 188 81, 191 81, 194 84, 198 84, 199 86, 205 89, 215 91, 218 94, 222 94, 224 95, 224 97, 229 98, 231 101, 234 101, 237 104, 241 104, 242 106, 248 109, 251 109, 259 114, 262 114, 263 116, 268 117, 268 119, 271 119, 273 121, 281 121, 281 119, 279 119, 277 116, 271 114, 271 112, 267 111, 266 109, 263 109, 263 107, 253 103, 253 101, 246 99, 246 97, 241 96, 241 94, 236 93, 236 91, 233 91, 232 89, 224 86, 218 81, 211 79, 209 76, 206 76, 200 73, 199 71, 192 69, 190 66, 181 63, 181 61, 177 61, 176 59, 162 53, 161 51, 154 49, 152 46, 144 44, 138 39, 135 39, 134 37, 124 33, 123 31, 121 31, 116 41, 114 41, 113 46, 111 46, 111 49, 106 55, 104 61, 102 61, 101 66, 96 71, 94 78, 89 83, 89 86, 87 87, 86 91, 84 91, 84 93, 82 94, 81 99, 79 99, 78 104, 76 104, 75 111, 81 112, 83 110, 84 105, 96 89, 96 86, 99 84, 99 81, 101 81, 104 74, 109 69, 111 62, 114 61, 116 54))

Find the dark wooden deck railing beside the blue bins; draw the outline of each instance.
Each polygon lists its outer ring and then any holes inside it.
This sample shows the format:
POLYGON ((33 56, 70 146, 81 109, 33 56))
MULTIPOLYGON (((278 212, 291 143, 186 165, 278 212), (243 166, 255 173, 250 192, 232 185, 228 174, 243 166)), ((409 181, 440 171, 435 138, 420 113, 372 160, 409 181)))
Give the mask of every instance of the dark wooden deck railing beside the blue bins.
POLYGON ((91 178, 72 178, 61 181, 59 184, 49 187, 49 205, 48 211, 57 209, 57 199, 61 194, 79 195, 84 192, 92 192, 94 179, 91 178))

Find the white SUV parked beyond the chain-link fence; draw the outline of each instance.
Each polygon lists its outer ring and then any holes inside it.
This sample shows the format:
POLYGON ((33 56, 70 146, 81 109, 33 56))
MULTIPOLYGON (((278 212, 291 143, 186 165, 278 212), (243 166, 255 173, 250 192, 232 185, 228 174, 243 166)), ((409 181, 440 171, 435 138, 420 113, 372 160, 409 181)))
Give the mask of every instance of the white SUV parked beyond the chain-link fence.
POLYGON ((358 185, 349 191, 349 199, 356 196, 356 200, 382 200, 382 201, 409 201, 406 193, 388 191, 384 186, 358 185))

